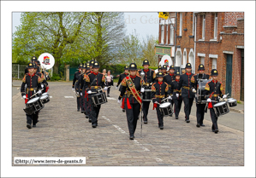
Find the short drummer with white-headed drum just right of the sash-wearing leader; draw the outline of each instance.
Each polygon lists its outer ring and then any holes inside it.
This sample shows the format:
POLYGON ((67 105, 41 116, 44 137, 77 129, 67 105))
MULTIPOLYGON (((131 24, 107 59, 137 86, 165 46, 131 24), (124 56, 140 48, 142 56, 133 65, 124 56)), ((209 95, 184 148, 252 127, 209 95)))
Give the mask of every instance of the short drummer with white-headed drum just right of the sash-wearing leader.
MULTIPOLYGON (((164 98, 167 98, 167 95, 170 94, 168 83, 163 82, 164 73, 158 72, 157 74, 158 82, 152 84, 152 102, 154 103, 153 109, 157 109, 158 115, 158 127, 164 129, 164 115, 159 110, 159 104, 161 104, 164 98)), ((171 100, 171 97, 168 96, 168 99, 171 100)))

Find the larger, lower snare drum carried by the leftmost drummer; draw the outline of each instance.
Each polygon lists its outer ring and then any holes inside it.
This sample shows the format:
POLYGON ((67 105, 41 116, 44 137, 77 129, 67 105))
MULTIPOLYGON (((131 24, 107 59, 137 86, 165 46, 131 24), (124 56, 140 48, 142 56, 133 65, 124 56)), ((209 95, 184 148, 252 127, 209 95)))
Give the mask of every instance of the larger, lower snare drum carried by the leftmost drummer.
POLYGON ((40 100, 39 97, 33 98, 27 101, 26 107, 23 109, 28 115, 32 115, 34 112, 38 112, 39 110, 44 108, 44 104, 40 100))

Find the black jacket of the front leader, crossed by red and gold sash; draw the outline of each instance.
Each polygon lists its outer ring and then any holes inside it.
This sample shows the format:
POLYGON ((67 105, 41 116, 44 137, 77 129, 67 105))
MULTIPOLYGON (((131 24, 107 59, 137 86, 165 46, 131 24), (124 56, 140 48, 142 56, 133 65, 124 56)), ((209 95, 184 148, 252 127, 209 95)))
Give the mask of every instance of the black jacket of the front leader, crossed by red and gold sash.
MULTIPOLYGON (((137 94, 140 95, 140 89, 141 89, 141 85, 143 83, 142 78, 140 76, 137 76, 137 75, 129 76, 129 77, 132 79, 132 81, 134 83, 134 87, 137 90, 137 94)), ((121 93, 120 93, 120 95, 118 97, 118 100, 121 100, 122 96, 123 96, 123 100, 124 100, 125 103, 127 101, 129 101, 130 104, 132 104, 132 103, 137 104, 139 102, 138 102, 138 100, 136 100, 134 98, 134 95, 132 94, 131 90, 129 89, 128 83, 127 83, 127 78, 123 78, 122 79, 122 83, 121 83, 122 87, 120 88, 121 89, 121 91, 120 91, 121 93)), ((140 100, 141 100, 141 98, 140 98, 140 100)))

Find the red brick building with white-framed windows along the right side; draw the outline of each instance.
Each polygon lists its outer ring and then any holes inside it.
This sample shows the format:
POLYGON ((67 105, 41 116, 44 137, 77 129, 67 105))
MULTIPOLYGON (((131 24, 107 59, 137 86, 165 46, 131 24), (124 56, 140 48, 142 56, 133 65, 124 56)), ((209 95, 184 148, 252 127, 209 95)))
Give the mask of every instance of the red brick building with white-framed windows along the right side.
POLYGON ((206 73, 216 68, 225 93, 243 100, 243 12, 170 12, 159 19, 158 42, 158 61, 170 55, 176 71, 188 62, 194 73, 201 63, 206 73))

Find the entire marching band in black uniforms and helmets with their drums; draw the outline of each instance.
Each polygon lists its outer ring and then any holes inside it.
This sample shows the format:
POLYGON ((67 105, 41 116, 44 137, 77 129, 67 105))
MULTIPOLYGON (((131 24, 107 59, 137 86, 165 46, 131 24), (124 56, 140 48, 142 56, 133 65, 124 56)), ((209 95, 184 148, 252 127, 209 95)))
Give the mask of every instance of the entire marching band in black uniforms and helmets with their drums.
MULTIPOLYGON (((141 122, 148 122, 148 110, 150 102, 153 102, 153 110, 156 109, 158 128, 164 129, 164 117, 179 118, 182 101, 184 103, 185 121, 190 122, 193 99, 196 102, 196 127, 205 126, 203 123, 207 108, 210 110, 212 121, 211 130, 217 134, 217 118, 229 112, 229 106, 236 106, 235 99, 227 99, 223 94, 223 84, 217 81, 217 70, 211 70, 211 76, 205 74, 205 66, 200 64, 199 73, 191 72, 191 64, 186 65, 186 72, 182 75, 175 72, 175 67, 166 65, 158 66, 158 72, 150 69, 149 61, 144 60, 143 69, 138 70, 135 63, 124 67, 124 72, 119 76, 116 89, 120 85, 117 103, 126 112, 129 139, 134 140, 137 120, 141 112, 141 122), (210 79, 210 77, 212 79, 210 79)), ((76 95, 77 111, 89 118, 92 128, 98 126, 98 114, 101 105, 107 102, 104 91, 113 86, 113 76, 100 73, 96 60, 78 66, 78 72, 74 73, 72 89, 76 95)), ((27 128, 36 127, 39 122, 39 111, 47 103, 49 95, 48 83, 42 71, 39 60, 33 56, 29 62, 21 84, 21 96, 25 99, 27 116, 27 128), (41 69, 41 70, 40 70, 41 69)), ((110 89, 109 89, 110 91, 110 89)), ((109 97, 109 92, 108 95, 109 97)), ((142 125, 141 125, 142 127, 142 125)))

